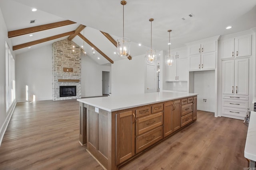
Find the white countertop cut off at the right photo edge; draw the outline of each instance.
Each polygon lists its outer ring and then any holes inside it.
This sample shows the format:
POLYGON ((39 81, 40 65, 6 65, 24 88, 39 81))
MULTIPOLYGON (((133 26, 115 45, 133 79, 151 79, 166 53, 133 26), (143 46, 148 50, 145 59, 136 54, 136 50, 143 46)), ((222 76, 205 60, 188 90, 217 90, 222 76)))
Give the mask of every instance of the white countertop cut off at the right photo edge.
POLYGON ((256 112, 251 111, 246 143, 244 148, 244 157, 256 161, 256 112))

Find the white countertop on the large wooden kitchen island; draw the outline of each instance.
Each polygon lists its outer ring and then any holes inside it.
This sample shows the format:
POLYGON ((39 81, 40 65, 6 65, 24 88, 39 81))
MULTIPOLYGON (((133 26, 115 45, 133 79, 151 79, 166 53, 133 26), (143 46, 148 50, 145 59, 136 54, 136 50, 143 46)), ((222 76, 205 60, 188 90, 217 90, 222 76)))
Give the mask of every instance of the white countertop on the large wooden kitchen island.
POLYGON ((154 92, 99 98, 84 98, 77 99, 77 101, 106 111, 117 111, 195 95, 197 94, 187 92, 154 92))

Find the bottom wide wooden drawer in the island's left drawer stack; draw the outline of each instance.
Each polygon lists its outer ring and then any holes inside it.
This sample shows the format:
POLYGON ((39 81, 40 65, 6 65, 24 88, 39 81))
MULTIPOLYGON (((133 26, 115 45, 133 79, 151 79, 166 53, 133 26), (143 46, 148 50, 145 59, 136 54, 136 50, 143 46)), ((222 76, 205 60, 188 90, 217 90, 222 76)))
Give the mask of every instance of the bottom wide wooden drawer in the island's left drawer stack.
POLYGON ((136 137, 136 153, 163 139, 163 126, 136 137))

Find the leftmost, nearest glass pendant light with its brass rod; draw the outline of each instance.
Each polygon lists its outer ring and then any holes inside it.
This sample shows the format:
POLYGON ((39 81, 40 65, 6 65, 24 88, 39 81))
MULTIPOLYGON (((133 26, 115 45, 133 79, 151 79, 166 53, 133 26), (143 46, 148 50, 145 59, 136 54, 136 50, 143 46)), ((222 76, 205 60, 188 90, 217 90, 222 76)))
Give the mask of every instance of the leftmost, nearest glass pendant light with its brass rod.
POLYGON ((126 1, 122 0, 121 5, 123 6, 123 37, 117 40, 117 53, 121 58, 127 58, 130 55, 130 39, 124 37, 124 6, 126 1))

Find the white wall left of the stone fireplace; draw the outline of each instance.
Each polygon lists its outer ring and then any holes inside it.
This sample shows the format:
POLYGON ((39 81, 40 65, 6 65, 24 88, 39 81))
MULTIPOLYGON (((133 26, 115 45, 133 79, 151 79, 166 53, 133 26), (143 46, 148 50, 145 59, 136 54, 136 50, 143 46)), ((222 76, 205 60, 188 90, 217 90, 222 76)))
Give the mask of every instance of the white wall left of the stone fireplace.
POLYGON ((28 51, 16 56, 17 102, 52 100, 52 45, 28 51))

